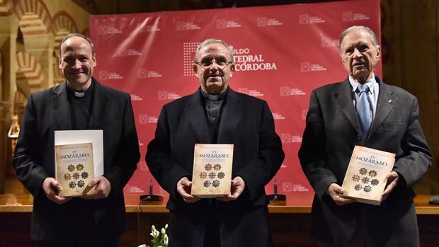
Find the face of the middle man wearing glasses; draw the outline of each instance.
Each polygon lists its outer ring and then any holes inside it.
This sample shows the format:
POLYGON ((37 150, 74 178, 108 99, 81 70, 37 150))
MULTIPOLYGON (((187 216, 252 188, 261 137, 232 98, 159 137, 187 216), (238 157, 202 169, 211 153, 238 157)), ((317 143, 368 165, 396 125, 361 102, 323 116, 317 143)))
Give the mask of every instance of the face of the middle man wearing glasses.
POLYGON ((218 65, 230 61, 229 51, 221 43, 207 44, 198 52, 197 60, 201 64, 210 64, 214 59, 215 62, 210 67, 203 68, 198 64, 192 66, 193 71, 200 80, 203 91, 212 95, 226 90, 228 81, 235 69, 234 64, 227 64, 223 68, 218 65))

